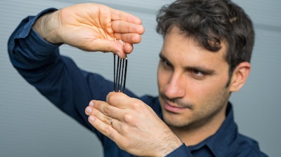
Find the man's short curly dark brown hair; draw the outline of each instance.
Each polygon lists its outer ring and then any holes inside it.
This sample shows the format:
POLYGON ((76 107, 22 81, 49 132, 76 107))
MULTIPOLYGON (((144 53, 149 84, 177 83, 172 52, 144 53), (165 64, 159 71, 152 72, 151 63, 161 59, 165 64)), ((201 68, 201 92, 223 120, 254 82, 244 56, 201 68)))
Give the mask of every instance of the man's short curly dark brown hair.
POLYGON ((250 62, 254 28, 240 6, 228 0, 177 0, 157 14, 157 32, 164 37, 171 27, 194 39, 200 46, 217 52, 226 43, 230 78, 240 62, 250 62))

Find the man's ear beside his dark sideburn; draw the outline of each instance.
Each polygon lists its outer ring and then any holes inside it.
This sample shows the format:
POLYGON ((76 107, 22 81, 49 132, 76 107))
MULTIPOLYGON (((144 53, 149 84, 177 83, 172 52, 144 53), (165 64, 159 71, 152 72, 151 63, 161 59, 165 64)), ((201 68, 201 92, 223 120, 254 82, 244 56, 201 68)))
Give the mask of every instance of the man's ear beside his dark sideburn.
POLYGON ((237 65, 233 71, 233 76, 230 81, 230 92, 237 92, 244 86, 244 83, 246 83, 249 76, 250 70, 251 64, 249 64, 249 62, 241 62, 237 65))

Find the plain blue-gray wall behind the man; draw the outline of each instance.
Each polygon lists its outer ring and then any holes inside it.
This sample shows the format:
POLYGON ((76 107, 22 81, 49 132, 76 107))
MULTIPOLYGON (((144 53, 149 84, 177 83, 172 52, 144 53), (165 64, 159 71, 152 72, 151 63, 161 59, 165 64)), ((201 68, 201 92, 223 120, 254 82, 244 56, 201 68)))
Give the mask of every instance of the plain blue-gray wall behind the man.
MULTIPOLYGON (((155 33, 155 12, 171 0, 96 2, 119 8, 143 19, 143 42, 129 55, 127 87, 138 95, 157 95, 156 68, 161 36, 155 33), (145 63, 145 64, 143 64, 145 63)), ((100 143, 88 130, 62 114, 25 82, 7 55, 7 40, 22 18, 48 7, 61 8, 86 1, 0 1, 0 156, 103 156, 100 143)), ((235 0, 254 21, 256 45, 247 84, 231 101, 240 132, 254 137, 269 156, 280 156, 281 20, 279 0, 235 0), (279 121, 279 122, 278 122, 279 121)), ((112 78, 112 55, 85 53, 62 46, 79 67, 112 78)))

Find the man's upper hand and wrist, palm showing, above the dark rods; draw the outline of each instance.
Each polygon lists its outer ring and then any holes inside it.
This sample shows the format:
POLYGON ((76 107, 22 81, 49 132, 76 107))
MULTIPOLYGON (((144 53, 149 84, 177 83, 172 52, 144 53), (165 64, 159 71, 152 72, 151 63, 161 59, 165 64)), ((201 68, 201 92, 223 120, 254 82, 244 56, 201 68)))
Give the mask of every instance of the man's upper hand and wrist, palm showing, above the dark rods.
POLYGON ((141 24, 141 19, 124 11, 100 4, 77 4, 41 16, 33 29, 50 43, 124 57, 133 50, 133 43, 141 42, 145 31, 141 24))

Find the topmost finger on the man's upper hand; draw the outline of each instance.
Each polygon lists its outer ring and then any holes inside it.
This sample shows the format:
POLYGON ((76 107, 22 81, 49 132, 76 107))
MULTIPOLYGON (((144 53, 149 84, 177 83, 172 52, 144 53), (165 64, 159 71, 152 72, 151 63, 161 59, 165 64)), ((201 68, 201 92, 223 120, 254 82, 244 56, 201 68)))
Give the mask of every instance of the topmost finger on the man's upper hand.
POLYGON ((140 18, 136 17, 135 15, 131 15, 124 11, 119 11, 116 9, 111 10, 112 20, 125 20, 127 22, 132 22, 138 25, 141 25, 142 21, 140 18))

